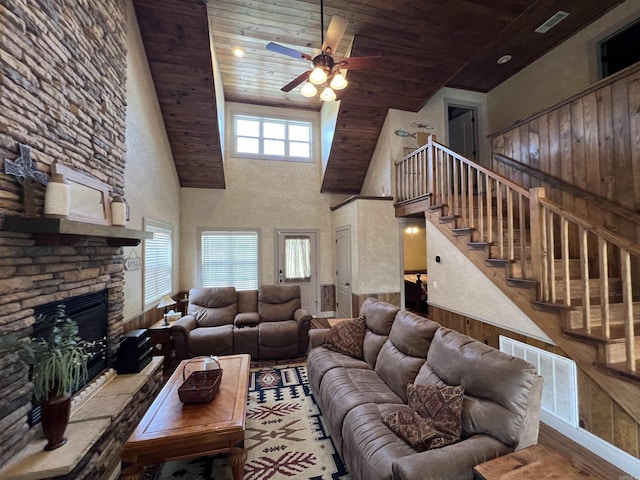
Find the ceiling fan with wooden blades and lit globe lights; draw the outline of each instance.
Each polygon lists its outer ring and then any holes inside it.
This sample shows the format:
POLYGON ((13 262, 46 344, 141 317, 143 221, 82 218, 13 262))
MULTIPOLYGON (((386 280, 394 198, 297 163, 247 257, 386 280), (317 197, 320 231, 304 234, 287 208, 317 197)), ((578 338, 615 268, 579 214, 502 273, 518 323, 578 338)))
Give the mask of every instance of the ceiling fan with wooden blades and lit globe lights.
POLYGON ((308 60, 313 64, 312 70, 298 75, 291 82, 287 83, 280 90, 290 92, 295 87, 305 82, 300 93, 305 97, 313 97, 318 93, 316 86, 322 88, 320 98, 324 101, 332 101, 336 99, 336 90, 342 90, 348 82, 340 70, 367 70, 378 66, 382 57, 344 57, 333 58, 332 54, 338 48, 340 41, 347 30, 349 21, 333 15, 327 28, 327 34, 324 35, 324 5, 320 0, 320 29, 322 31, 322 50, 319 55, 311 57, 306 53, 299 52, 293 48, 285 47, 278 43, 269 42, 267 50, 287 55, 289 57, 308 60))

